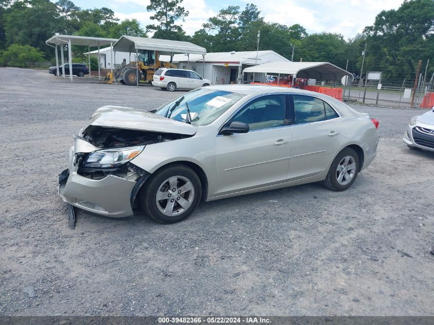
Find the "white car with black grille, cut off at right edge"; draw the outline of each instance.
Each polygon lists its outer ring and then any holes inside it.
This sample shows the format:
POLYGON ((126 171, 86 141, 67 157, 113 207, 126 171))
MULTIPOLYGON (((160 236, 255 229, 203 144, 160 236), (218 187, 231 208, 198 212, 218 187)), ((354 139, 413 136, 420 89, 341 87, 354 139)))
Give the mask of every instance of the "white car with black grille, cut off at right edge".
POLYGON ((434 107, 411 118, 402 140, 410 149, 434 151, 434 107))

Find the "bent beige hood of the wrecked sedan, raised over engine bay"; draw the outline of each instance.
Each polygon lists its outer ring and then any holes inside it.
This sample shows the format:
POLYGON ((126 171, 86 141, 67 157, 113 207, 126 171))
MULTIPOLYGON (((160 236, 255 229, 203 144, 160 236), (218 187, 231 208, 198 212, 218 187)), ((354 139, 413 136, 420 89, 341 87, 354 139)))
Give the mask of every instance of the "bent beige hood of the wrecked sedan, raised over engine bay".
POLYGON ((168 119, 146 110, 122 106, 98 108, 90 119, 90 125, 187 136, 193 136, 197 131, 197 127, 191 124, 168 119))

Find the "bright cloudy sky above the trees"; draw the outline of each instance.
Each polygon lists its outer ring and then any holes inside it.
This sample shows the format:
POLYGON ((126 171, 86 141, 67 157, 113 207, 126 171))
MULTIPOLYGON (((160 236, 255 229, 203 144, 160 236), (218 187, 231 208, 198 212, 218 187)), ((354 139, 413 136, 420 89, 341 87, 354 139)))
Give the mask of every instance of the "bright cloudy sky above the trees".
MULTIPOLYGON (((151 13, 146 11, 149 0, 73 0, 81 8, 108 7, 121 20, 136 18, 142 27, 149 24, 151 13)), ((397 9, 403 0, 184 0, 182 5, 190 15, 182 23, 187 34, 200 29, 207 18, 229 5, 244 8, 253 3, 267 22, 285 25, 300 24, 308 33, 336 32, 354 37, 365 26, 372 25, 381 10, 397 9)))

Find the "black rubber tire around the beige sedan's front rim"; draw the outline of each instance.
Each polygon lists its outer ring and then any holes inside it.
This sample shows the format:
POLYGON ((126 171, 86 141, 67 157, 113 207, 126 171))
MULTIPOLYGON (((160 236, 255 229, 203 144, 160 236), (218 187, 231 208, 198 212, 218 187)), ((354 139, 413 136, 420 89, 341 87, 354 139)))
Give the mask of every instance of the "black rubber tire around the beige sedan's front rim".
MULTIPOLYGON (((185 165, 174 164, 151 175, 140 190, 139 198, 145 215, 156 222, 169 224, 179 222, 190 216, 198 206, 201 196, 202 185, 195 171, 185 165), (190 180, 194 188, 194 196, 190 207, 188 207, 184 212, 177 216, 167 216, 163 214, 157 206, 156 196, 160 186, 164 184, 164 181, 174 176, 185 177, 190 180)), ((173 198, 175 199, 175 195, 173 198)), ((168 204, 168 200, 166 203, 168 204)), ((175 206, 178 206, 176 201, 175 204, 175 206)), ((174 208, 174 210, 175 209, 176 208, 174 208)))

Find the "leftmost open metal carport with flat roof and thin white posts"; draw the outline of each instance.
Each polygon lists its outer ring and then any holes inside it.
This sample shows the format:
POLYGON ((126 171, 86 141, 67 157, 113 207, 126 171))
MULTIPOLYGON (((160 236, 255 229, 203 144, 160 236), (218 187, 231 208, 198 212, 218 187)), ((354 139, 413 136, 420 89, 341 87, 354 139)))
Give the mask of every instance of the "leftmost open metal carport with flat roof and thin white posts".
MULTIPOLYGON (((54 35, 47 41, 45 41, 45 44, 48 46, 55 48, 56 53, 56 67, 57 67, 57 75, 59 77, 59 55, 58 55, 58 46, 63 46, 64 44, 68 45, 68 58, 69 58, 69 77, 72 81, 72 52, 71 52, 71 45, 81 45, 86 46, 90 52, 90 47, 97 47, 98 46, 98 52, 100 50, 100 46, 105 45, 112 45, 114 42, 116 42, 116 39, 105 39, 103 37, 89 37, 89 36, 77 36, 77 35, 54 35), (50 44, 54 44, 50 45, 50 44)), ((113 54, 111 54, 113 55, 113 54)), ((63 58, 63 48, 61 51, 61 58, 62 58, 62 76, 65 78, 65 67, 64 67, 64 58, 63 58)), ((89 56, 89 78, 90 78, 90 56, 89 56)), ((98 64, 98 79, 101 79, 101 68, 98 64)))

